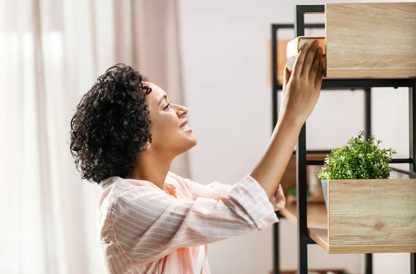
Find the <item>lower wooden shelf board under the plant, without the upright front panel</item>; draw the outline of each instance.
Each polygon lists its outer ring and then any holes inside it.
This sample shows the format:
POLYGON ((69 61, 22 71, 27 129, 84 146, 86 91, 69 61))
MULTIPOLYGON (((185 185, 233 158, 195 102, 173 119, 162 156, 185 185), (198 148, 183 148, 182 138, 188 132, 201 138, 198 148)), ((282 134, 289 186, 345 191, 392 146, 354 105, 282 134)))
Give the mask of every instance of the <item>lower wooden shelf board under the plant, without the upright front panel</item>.
MULTIPOLYGON (((297 225, 296 204, 286 205, 281 209, 280 214, 288 221, 297 225)), ((414 245, 398 246, 331 246, 328 239, 328 220, 327 208, 324 203, 308 204, 308 235, 318 243, 329 254, 347 254, 347 253, 385 253, 385 252, 415 252, 414 245)))

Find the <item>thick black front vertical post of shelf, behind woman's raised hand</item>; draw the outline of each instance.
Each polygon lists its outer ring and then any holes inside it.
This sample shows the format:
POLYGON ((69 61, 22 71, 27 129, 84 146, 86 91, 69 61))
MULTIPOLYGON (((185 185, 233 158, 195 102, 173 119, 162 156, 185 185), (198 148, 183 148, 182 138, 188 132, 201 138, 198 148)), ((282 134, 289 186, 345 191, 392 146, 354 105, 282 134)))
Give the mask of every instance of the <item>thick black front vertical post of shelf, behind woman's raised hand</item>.
MULTIPOLYGON (((295 6, 295 37, 304 35, 304 12, 295 6)), ((306 123, 300 130, 296 149, 297 273, 308 273, 308 234, 306 212, 306 123)))

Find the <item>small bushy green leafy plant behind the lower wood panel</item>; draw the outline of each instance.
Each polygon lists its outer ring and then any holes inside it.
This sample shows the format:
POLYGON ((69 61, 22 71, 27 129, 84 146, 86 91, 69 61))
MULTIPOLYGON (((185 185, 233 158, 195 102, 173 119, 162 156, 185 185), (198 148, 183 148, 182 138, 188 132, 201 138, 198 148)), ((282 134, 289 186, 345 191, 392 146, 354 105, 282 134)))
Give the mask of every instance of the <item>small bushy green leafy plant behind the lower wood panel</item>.
POLYGON ((345 146, 331 150, 324 161, 324 167, 318 173, 322 180, 343 179, 387 179, 391 168, 388 165, 397 151, 392 148, 380 148, 381 141, 372 135, 367 141, 364 132, 349 139, 345 146))

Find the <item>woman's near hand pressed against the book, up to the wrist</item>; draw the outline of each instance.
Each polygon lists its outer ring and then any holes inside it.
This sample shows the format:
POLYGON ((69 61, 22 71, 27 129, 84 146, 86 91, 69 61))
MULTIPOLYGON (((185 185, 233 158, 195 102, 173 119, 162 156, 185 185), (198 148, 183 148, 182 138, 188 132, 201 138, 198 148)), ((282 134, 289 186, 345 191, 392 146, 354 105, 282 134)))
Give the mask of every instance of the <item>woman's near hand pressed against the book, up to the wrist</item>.
POLYGON ((303 124, 318 102, 324 67, 322 48, 315 40, 302 47, 291 73, 284 69, 284 87, 281 94, 281 115, 303 124))

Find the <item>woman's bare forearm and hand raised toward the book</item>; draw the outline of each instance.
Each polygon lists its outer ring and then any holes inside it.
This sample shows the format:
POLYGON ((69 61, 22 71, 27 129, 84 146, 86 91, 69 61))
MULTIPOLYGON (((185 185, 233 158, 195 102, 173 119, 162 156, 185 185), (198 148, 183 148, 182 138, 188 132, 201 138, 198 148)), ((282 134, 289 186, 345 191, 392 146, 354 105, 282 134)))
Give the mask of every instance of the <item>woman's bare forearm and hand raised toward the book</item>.
POLYGON ((316 43, 305 44, 295 62, 289 78, 285 69, 285 85, 282 92, 280 117, 273 130, 266 153, 250 175, 266 191, 269 198, 274 196, 291 158, 300 129, 309 117, 320 95, 323 66, 322 49, 316 43))

